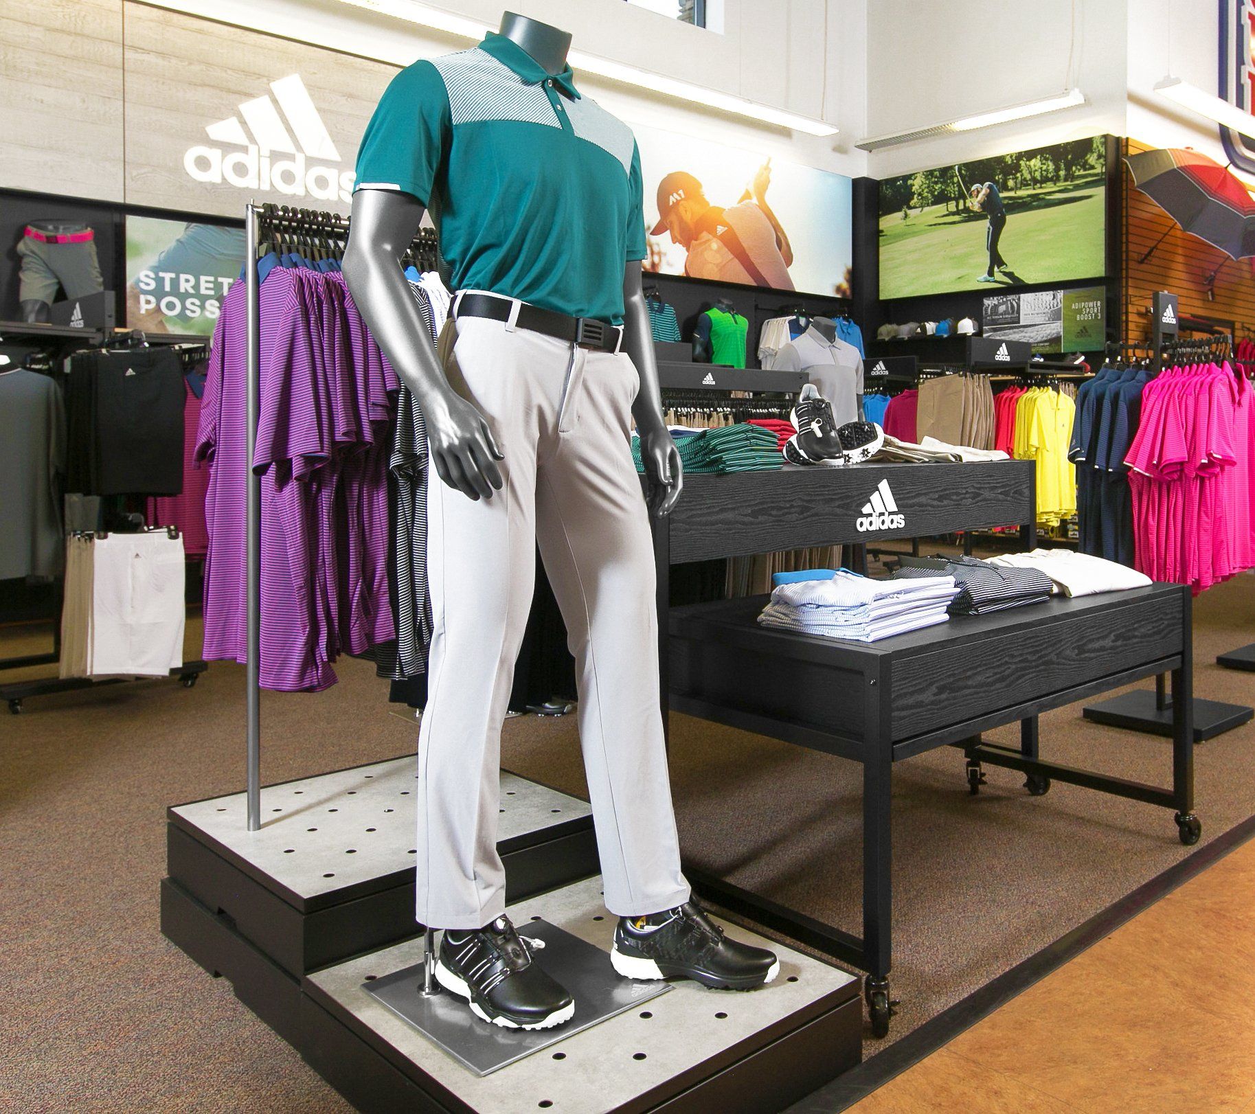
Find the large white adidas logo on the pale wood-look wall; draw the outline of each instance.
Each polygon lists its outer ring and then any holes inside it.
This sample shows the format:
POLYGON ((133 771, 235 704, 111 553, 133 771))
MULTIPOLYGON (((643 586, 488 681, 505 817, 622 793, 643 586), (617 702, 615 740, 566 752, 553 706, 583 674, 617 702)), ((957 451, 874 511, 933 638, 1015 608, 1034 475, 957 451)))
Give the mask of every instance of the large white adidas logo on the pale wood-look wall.
POLYGON ((240 115, 227 117, 205 129, 215 142, 243 151, 227 153, 221 147, 190 147, 183 153, 183 169, 197 182, 348 202, 353 196, 354 172, 328 166, 340 162, 340 152, 300 74, 271 82, 270 90, 272 97, 246 100, 240 105, 240 115), (271 161, 271 154, 289 157, 271 161))

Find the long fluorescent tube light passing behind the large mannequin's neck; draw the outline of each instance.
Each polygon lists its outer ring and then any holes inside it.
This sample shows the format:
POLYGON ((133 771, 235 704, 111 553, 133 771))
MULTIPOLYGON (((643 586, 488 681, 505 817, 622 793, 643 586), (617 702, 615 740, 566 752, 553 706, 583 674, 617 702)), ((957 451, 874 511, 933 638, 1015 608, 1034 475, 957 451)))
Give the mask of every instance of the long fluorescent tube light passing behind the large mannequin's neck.
MULTIPOLYGON (((422 28, 446 31, 464 39, 482 39, 486 31, 492 30, 486 24, 463 19, 459 15, 451 15, 447 11, 428 8, 425 4, 415 4, 412 0, 340 0, 340 3, 350 4, 354 8, 363 8, 368 11, 376 11, 380 15, 400 19, 422 28)), ((635 85, 650 93, 661 93, 665 97, 689 100, 694 104, 734 113, 735 115, 761 120, 767 124, 776 124, 781 128, 792 128, 794 132, 806 132, 809 135, 837 134, 837 129, 831 124, 813 119, 812 117, 783 112, 767 104, 758 104, 754 100, 733 97, 729 93, 719 93, 714 89, 707 89, 703 85, 694 85, 692 82, 681 82, 676 78, 663 77, 661 74, 650 73, 634 65, 611 61, 609 58, 585 54, 582 50, 572 50, 569 59, 571 65, 577 70, 609 78, 612 82, 622 82, 625 85, 635 85)))

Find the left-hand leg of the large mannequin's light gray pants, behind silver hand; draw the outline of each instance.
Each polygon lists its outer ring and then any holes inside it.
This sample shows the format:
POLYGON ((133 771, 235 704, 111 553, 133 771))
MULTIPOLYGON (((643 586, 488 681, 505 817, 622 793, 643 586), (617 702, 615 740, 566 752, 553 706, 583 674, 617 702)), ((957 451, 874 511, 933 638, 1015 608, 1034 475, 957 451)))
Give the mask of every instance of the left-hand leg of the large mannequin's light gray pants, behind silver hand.
POLYGON ((428 492, 434 634, 418 743, 415 915, 435 928, 481 928, 506 908, 501 725, 535 586, 536 440, 528 379, 483 336, 493 327, 459 322, 458 358, 447 356, 446 370, 488 420, 506 484, 474 502, 433 470, 428 492))

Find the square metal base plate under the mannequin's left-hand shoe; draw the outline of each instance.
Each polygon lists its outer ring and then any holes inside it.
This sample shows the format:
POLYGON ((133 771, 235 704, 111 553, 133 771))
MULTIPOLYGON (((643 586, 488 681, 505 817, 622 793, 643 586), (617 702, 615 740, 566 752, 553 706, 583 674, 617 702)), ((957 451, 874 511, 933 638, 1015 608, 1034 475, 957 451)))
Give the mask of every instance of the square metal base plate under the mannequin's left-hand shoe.
POLYGON ((541 942, 536 963, 575 999, 575 1016, 565 1025, 530 1031, 486 1025, 467 1009, 466 999, 446 990, 424 996, 422 963, 365 982, 363 989, 476 1075, 497 1071, 633 1006, 640 1009, 671 989, 665 981, 620 977, 600 947, 546 921, 528 921, 521 932, 541 942))

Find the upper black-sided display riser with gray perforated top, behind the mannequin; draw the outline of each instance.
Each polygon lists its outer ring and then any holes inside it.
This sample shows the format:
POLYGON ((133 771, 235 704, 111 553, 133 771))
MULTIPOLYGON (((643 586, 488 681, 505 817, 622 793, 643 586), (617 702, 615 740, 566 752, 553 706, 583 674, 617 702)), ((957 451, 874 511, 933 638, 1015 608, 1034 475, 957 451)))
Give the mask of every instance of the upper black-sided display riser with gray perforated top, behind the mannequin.
MULTIPOLYGON (((168 814, 169 881, 296 979, 413 936, 414 798, 399 787, 413 784, 414 765, 394 759, 269 785, 269 819, 255 833, 245 827, 243 794, 177 805, 168 814), (290 812, 276 818, 279 808, 290 812)), ((597 871, 587 804, 510 774, 502 803, 498 848, 511 899, 597 871)))

